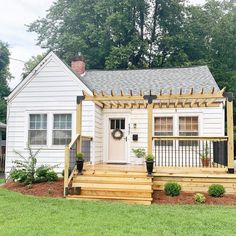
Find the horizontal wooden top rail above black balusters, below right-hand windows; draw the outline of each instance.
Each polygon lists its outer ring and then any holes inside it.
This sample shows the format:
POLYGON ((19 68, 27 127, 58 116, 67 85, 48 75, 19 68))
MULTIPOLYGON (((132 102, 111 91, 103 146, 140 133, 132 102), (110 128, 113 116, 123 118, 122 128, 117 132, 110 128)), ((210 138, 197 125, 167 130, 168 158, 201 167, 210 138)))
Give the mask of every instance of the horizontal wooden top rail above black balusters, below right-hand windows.
POLYGON ((153 136, 152 140, 208 140, 208 141, 227 141, 228 136, 153 136))

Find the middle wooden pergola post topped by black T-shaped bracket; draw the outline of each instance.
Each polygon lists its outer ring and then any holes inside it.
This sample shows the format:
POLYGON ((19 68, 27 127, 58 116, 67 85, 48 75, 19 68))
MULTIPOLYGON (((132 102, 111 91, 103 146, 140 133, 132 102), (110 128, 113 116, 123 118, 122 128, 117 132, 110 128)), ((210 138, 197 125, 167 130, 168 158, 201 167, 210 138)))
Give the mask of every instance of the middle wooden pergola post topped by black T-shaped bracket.
POLYGON ((144 95, 144 99, 148 100, 147 111, 148 111, 148 146, 147 153, 152 154, 152 132, 153 132, 153 100, 157 98, 156 95, 144 95))

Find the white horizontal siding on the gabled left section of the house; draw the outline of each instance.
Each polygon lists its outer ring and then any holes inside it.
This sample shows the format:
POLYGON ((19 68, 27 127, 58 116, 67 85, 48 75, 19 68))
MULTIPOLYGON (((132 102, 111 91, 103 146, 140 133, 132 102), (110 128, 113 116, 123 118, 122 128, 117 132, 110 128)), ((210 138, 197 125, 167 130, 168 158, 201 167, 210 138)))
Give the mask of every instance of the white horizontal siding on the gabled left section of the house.
MULTIPOLYGON (((28 116, 30 113, 48 114, 48 144, 42 147, 38 164, 64 165, 64 147, 52 145, 52 119, 54 113, 72 114, 72 136, 75 135, 76 96, 84 85, 55 56, 42 66, 24 88, 8 103, 6 173, 17 158, 14 150, 27 155, 28 116)), ((82 134, 94 134, 94 104, 83 102, 82 134)), ((35 147, 35 150, 38 147, 35 147)))

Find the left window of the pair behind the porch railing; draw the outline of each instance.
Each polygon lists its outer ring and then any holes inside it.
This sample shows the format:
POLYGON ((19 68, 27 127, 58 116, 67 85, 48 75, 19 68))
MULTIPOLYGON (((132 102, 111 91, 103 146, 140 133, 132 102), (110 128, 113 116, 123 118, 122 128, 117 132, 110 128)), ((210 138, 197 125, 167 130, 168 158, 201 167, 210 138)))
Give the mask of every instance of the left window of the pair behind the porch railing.
MULTIPOLYGON (((173 136, 173 117, 155 118, 155 136, 173 136)), ((158 146, 172 146, 173 141, 157 141, 158 146)))

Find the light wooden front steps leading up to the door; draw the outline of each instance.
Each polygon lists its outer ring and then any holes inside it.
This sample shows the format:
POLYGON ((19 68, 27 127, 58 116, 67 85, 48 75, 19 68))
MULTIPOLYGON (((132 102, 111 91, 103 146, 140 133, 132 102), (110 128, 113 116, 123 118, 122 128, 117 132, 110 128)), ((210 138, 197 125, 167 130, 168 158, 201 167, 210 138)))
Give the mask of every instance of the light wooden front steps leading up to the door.
POLYGON ((72 188, 80 188, 79 195, 69 199, 89 199, 150 205, 152 178, 143 170, 122 170, 86 167, 83 175, 74 175, 72 188))

